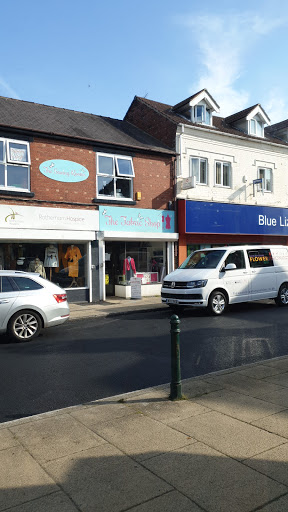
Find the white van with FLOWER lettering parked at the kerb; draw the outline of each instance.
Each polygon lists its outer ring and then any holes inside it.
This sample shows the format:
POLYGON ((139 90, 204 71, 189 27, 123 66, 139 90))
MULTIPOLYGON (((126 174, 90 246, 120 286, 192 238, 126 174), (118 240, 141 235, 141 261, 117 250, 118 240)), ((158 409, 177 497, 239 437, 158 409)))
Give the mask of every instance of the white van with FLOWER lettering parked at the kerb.
POLYGON ((164 279, 162 302, 174 310, 208 308, 221 315, 228 304, 275 299, 288 306, 288 247, 240 245, 195 251, 164 279))

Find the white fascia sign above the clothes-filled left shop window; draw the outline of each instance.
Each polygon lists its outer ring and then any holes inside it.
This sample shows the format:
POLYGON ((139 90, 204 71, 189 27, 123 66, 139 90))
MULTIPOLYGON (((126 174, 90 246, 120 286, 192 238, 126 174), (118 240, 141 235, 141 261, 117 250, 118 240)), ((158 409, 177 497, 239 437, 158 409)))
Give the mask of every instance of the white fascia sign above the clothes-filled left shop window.
POLYGON ((97 231, 99 216, 89 210, 0 205, 0 228, 97 231))

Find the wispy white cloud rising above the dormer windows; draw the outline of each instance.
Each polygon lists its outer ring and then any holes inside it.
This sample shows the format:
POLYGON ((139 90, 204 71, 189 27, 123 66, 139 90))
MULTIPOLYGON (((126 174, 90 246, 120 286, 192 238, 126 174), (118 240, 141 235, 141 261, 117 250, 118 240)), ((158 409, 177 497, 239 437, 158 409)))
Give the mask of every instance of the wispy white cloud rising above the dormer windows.
POLYGON ((190 93, 208 89, 220 105, 222 116, 251 106, 248 87, 237 86, 245 73, 245 56, 263 36, 287 25, 287 18, 266 19, 251 12, 230 12, 221 16, 193 15, 182 18, 182 24, 191 30, 200 52, 198 79, 190 93))

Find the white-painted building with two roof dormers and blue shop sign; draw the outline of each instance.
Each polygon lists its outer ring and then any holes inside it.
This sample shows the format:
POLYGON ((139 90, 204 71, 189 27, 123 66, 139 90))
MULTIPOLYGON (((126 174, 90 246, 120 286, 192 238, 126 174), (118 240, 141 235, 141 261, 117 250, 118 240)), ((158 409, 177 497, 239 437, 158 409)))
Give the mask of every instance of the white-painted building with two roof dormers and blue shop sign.
POLYGON ((135 97, 125 116, 177 152, 179 263, 195 249, 288 240, 288 121, 260 104, 226 118, 206 89, 177 105, 135 97))

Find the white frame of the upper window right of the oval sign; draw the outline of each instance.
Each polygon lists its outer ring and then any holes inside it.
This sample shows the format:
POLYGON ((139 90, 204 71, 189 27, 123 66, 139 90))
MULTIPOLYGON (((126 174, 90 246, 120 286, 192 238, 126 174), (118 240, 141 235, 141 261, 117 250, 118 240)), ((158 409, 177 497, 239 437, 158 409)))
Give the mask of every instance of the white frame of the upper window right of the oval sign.
POLYGON ((113 154, 113 153, 103 153, 103 152, 97 152, 96 154, 96 194, 98 199, 105 199, 107 201, 133 201, 133 179, 135 178, 135 171, 133 166, 133 158, 131 156, 126 155, 119 155, 119 154, 113 154), (100 166, 99 166, 99 157, 107 157, 112 158, 113 161, 113 174, 108 174, 106 172, 101 172, 100 166), (119 160, 128 160, 131 164, 131 171, 132 174, 126 174, 121 173, 119 170, 119 160), (113 195, 105 195, 100 194, 99 187, 98 187, 98 177, 107 177, 110 179, 113 179, 113 195), (119 197, 117 196, 117 179, 123 179, 126 181, 129 181, 130 183, 130 197, 119 197))

